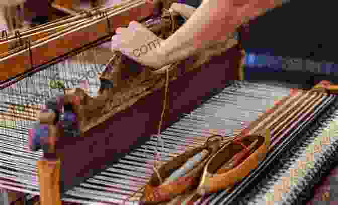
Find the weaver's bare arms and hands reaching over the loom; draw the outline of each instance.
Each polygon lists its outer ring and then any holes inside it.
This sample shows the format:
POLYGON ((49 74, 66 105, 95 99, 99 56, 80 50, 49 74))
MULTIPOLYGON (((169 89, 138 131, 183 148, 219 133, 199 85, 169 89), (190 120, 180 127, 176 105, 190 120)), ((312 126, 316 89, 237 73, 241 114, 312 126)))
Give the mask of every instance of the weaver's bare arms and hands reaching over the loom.
POLYGON ((189 18, 172 36, 162 41, 149 29, 132 21, 128 28, 116 29, 111 41, 112 50, 156 70, 202 49, 226 44, 237 27, 273 8, 276 1, 282 0, 204 0, 196 10, 183 4, 172 4, 171 10, 189 18), (146 45, 160 46, 140 52, 146 45))

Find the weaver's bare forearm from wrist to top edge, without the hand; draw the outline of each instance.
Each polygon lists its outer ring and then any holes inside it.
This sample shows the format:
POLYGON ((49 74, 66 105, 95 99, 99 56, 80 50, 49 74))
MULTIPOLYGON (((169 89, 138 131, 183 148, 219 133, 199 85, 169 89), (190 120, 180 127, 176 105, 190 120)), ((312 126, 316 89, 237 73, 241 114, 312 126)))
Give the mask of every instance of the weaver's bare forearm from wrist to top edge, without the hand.
POLYGON ((262 15, 281 0, 204 0, 190 19, 156 51, 160 68, 224 40, 249 18, 262 15))

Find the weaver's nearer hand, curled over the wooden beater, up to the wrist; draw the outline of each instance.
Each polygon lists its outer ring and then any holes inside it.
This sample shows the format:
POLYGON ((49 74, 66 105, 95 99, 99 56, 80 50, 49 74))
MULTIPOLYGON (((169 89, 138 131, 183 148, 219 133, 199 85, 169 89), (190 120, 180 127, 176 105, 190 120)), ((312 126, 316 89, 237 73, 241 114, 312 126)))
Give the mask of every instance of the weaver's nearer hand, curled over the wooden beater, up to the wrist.
POLYGON ((162 39, 138 22, 128 28, 117 28, 112 37, 112 50, 120 51, 130 59, 152 68, 160 68, 162 58, 157 52, 162 39))

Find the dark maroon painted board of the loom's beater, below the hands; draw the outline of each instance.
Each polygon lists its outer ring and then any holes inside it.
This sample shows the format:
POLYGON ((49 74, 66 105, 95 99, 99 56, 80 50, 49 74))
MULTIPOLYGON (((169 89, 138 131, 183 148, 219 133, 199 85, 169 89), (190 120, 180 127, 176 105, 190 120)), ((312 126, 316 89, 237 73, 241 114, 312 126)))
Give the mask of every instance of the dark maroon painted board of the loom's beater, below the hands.
MULTIPOLYGON (((222 56, 194 72, 172 82, 168 92, 167 112, 163 128, 178 120, 180 113, 188 113, 202 98, 215 89, 226 87, 229 80, 239 79, 240 53, 232 48, 222 56)), ((139 100, 130 108, 117 113, 79 138, 64 139, 57 145, 61 157, 61 192, 82 183, 116 162, 136 145, 149 140, 157 132, 161 116, 164 88, 139 100)))

